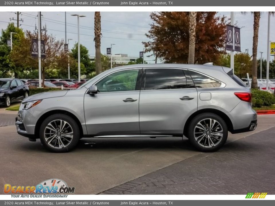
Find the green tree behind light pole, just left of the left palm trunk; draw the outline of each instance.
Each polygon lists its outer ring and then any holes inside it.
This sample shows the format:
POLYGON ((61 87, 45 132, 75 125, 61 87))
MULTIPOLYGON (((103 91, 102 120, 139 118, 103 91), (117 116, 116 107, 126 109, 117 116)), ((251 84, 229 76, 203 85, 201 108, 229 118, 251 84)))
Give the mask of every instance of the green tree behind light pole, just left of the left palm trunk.
MULTIPOLYGON (((72 57, 77 61, 78 60, 78 49, 77 43, 74 44, 74 47, 71 50, 72 57)), ((89 58, 89 50, 80 44, 80 64, 84 65, 85 73, 82 74, 90 74, 95 71, 95 68, 92 68, 91 60, 89 58)))

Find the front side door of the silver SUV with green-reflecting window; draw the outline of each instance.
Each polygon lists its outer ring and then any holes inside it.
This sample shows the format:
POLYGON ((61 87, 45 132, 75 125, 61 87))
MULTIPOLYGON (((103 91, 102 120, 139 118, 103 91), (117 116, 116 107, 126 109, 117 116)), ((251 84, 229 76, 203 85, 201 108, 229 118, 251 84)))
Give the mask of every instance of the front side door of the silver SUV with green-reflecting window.
POLYGON ((117 71, 96 83, 97 94, 85 94, 88 134, 140 134, 139 96, 142 69, 117 71))

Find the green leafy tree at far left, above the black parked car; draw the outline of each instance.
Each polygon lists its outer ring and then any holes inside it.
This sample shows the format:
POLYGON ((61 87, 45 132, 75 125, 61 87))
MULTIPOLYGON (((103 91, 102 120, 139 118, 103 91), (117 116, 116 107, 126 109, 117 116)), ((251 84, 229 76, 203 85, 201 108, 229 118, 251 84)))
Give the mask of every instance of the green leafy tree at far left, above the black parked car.
POLYGON ((18 77, 18 72, 22 68, 18 68, 13 64, 11 60, 11 47, 7 45, 7 40, 11 37, 11 32, 16 32, 12 35, 13 49, 16 49, 16 45, 19 45, 22 39, 24 39, 24 32, 22 29, 14 26, 14 23, 9 23, 7 28, 1 30, 0 37, 0 70, 2 73, 7 74, 8 72, 14 73, 15 78, 18 77))

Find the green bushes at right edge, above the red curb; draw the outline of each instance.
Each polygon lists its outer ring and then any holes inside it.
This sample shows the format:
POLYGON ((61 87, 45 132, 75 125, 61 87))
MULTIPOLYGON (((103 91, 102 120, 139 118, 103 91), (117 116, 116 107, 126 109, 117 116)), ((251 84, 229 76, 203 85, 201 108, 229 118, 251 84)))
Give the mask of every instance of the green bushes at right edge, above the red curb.
POLYGON ((261 105, 261 102, 262 106, 270 106, 272 104, 275 104, 275 96, 266 91, 252 89, 252 105, 255 107, 261 107, 256 106, 256 104, 261 105))

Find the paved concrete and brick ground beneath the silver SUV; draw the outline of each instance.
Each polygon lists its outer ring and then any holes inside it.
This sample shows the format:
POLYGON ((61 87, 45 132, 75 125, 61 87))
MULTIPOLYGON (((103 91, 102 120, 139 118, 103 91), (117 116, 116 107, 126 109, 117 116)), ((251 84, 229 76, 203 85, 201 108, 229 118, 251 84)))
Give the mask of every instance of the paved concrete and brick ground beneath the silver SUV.
MULTIPOLYGON (((0 111, 0 122, 7 114, 16 116, 0 111)), ((56 154, 40 140, 19 136, 14 125, 2 126, 0 182, 36 185, 58 178, 76 194, 243 194, 257 187, 275 194, 274 120, 259 116, 255 131, 230 134, 215 153, 197 152, 175 137, 83 138, 76 150, 56 154)))

